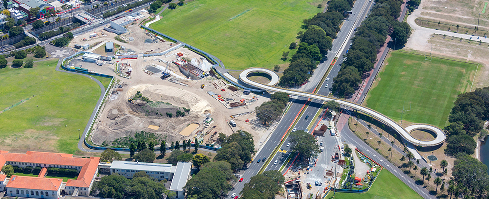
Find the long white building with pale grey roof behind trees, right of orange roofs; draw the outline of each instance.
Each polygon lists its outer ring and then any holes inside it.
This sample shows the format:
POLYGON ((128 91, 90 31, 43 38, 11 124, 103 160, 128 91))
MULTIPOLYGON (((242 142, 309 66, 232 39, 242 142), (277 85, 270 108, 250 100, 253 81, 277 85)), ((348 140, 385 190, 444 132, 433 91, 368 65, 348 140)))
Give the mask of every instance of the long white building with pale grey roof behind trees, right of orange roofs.
POLYGON ((113 161, 110 166, 111 175, 116 173, 129 179, 133 178, 134 174, 139 171, 144 171, 158 180, 169 180, 173 178, 175 167, 172 164, 125 161, 113 161))

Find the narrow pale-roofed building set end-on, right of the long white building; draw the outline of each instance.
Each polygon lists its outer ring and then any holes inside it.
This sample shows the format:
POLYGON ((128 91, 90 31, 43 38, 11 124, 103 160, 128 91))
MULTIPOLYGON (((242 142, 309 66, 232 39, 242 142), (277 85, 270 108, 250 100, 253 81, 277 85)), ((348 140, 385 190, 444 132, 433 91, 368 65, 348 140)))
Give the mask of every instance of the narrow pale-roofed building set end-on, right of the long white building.
POLYGON ((170 185, 170 191, 175 192, 175 199, 185 199, 185 184, 190 177, 190 169, 192 163, 190 162, 178 162, 175 174, 173 175, 172 184, 170 185))

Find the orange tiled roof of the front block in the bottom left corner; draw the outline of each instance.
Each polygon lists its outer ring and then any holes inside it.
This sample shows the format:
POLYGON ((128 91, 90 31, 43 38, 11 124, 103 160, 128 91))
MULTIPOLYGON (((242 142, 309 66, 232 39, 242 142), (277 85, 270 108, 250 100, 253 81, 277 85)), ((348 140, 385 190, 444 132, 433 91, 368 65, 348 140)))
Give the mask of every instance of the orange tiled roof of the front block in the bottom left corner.
POLYGON ((8 181, 7 188, 35 189, 57 191, 63 183, 58 178, 38 178, 29 176, 12 176, 8 181))

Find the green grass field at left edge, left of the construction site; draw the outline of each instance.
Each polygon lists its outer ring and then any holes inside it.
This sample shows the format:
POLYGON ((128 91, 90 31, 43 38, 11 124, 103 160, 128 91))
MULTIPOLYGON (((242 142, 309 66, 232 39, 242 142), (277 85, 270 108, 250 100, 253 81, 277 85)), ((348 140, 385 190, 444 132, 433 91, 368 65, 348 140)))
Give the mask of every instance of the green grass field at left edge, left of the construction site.
POLYGON ((101 91, 89 78, 55 71, 57 62, 0 69, 0 111, 29 98, 0 114, 2 150, 77 151, 77 129, 85 129, 101 91))

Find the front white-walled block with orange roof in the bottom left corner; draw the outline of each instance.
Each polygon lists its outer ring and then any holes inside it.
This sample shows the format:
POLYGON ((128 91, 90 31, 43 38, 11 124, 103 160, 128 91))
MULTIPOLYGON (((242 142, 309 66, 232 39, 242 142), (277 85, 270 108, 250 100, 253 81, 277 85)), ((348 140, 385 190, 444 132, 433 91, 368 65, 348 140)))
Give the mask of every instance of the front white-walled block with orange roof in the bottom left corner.
POLYGON ((61 194, 61 184, 63 184, 63 179, 12 176, 8 181, 5 195, 57 199, 61 194))

